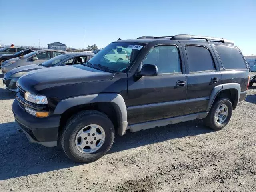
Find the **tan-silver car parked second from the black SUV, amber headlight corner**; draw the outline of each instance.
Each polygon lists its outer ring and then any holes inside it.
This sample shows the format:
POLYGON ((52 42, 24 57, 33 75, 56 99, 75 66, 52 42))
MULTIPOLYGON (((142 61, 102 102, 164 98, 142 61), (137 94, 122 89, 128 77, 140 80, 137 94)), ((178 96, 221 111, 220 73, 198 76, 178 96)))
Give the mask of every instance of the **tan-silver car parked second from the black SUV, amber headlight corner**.
POLYGON ((26 54, 23 57, 13 58, 6 60, 1 65, 2 73, 7 73, 8 71, 25 65, 32 65, 42 63, 50 58, 58 56, 60 54, 68 53, 62 50, 53 50, 53 49, 41 49, 29 54, 26 54))

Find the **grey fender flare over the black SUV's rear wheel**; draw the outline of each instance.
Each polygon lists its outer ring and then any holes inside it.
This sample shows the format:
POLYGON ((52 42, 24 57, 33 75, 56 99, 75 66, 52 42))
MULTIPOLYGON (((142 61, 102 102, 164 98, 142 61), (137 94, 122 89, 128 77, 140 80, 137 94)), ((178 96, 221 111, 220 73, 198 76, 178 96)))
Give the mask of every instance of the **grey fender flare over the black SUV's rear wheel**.
POLYGON ((208 106, 206 108, 206 111, 209 111, 210 108, 212 107, 212 104, 216 98, 216 96, 218 95, 219 92, 221 92, 222 90, 227 90, 227 89, 236 89, 238 92, 238 98, 237 100, 234 101, 234 105, 233 105, 233 109, 236 108, 239 98, 240 98, 240 93, 241 93, 241 86, 239 83, 225 83, 225 84, 220 84, 217 85, 213 88, 212 93, 210 95, 209 98, 209 102, 208 102, 208 106))

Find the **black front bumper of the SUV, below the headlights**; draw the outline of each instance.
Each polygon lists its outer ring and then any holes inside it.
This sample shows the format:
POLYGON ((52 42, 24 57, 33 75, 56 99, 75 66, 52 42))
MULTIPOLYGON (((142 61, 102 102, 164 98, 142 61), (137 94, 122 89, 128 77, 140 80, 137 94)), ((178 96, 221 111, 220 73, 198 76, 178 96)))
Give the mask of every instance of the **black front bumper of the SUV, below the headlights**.
POLYGON ((57 146, 60 115, 38 118, 28 114, 19 104, 17 98, 12 104, 15 121, 26 133, 30 142, 47 147, 57 146))

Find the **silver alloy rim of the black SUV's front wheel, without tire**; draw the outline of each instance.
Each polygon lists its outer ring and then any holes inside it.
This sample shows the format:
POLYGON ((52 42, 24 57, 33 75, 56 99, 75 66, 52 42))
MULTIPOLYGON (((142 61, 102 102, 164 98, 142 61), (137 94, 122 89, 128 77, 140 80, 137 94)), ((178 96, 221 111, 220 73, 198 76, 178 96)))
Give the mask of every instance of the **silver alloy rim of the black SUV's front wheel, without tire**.
POLYGON ((96 124, 85 126, 76 134, 76 148, 85 154, 94 153, 104 144, 105 136, 101 126, 96 124))

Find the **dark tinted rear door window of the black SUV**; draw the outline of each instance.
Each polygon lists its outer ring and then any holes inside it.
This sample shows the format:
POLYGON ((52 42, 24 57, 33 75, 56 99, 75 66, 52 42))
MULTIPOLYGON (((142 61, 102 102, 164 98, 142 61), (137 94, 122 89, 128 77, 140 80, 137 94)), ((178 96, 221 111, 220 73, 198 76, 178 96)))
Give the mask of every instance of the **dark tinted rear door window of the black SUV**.
POLYGON ((209 50, 200 46, 186 46, 190 72, 215 70, 209 50))

